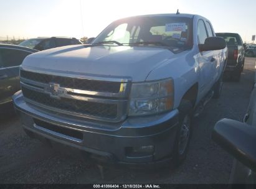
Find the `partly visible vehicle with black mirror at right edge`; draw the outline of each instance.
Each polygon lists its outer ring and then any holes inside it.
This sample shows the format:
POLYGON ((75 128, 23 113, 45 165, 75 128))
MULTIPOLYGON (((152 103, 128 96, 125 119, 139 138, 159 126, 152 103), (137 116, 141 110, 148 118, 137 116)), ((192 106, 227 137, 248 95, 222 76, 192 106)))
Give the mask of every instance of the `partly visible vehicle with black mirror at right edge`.
POLYGON ((214 127, 212 139, 235 157, 230 183, 256 184, 255 113, 256 88, 252 91, 244 123, 222 119, 214 127))

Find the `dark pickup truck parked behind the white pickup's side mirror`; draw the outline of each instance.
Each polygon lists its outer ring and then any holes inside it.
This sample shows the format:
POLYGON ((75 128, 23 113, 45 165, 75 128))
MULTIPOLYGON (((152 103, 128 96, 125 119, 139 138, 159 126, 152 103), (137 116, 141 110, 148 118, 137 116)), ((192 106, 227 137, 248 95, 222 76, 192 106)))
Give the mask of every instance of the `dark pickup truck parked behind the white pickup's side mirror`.
POLYGON ((216 35, 224 38, 227 42, 229 55, 225 71, 231 73, 235 81, 239 81, 241 72, 244 70, 245 49, 243 41, 240 35, 235 33, 216 33, 216 35))

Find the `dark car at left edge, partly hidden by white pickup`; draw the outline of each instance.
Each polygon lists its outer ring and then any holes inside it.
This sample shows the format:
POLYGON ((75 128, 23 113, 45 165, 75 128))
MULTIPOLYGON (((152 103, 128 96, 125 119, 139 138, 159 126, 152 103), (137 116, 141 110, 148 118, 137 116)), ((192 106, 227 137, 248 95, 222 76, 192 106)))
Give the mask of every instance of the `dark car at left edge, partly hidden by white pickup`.
POLYGON ((38 50, 17 45, 0 44, 0 112, 12 101, 12 95, 19 91, 19 65, 27 55, 38 50))

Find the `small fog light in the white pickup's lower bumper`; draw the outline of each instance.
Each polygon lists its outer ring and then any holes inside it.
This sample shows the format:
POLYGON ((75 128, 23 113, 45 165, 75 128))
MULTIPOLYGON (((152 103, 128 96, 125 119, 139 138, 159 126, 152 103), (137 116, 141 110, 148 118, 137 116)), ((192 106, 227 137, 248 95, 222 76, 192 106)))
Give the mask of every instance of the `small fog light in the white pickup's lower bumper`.
POLYGON ((126 147, 125 154, 128 157, 144 157, 154 154, 154 145, 142 145, 139 147, 126 147))

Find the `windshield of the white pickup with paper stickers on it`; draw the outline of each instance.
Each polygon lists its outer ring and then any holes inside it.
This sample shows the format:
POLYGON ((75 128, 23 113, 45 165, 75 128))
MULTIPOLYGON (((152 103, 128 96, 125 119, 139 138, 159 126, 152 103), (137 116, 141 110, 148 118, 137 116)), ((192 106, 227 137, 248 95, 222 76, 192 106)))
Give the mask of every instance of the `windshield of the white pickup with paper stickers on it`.
POLYGON ((113 42, 122 45, 168 45, 192 47, 192 19, 154 16, 121 19, 110 24, 93 44, 113 42))

